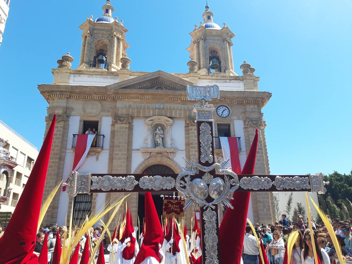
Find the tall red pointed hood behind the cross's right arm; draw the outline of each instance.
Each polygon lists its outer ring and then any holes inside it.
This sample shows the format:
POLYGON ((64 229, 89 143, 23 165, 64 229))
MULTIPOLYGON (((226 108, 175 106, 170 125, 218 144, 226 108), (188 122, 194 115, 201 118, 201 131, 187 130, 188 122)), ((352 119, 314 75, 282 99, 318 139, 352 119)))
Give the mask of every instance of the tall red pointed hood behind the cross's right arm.
MULTIPOLYGON (((248 153, 246 163, 243 167, 242 174, 253 174, 254 166, 256 164, 257 147, 258 130, 256 129, 256 134, 248 153)), ((219 228, 221 264, 241 263, 244 235, 238 234, 245 233, 250 192, 235 191, 232 197, 233 200, 231 200, 230 203, 234 209, 227 208, 219 228), (236 228, 233 228, 234 226, 236 228)))

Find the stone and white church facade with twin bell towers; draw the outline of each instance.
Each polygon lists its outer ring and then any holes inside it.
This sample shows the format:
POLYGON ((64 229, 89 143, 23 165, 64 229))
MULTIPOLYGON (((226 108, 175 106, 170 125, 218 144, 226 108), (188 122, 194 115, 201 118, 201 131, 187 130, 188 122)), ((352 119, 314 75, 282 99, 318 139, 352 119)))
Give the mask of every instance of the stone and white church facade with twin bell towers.
MULTIPOLYGON (((57 114, 54 141, 51 150, 44 196, 72 170, 78 134, 88 128, 97 131, 96 141, 90 147, 80 173, 180 173, 183 158, 198 155, 194 101, 187 100, 187 85, 217 84, 220 99, 212 101, 214 113, 214 149, 222 156, 218 137, 237 137, 241 165, 247 157, 256 128, 259 144, 256 174, 270 174, 265 141, 265 121, 262 108, 271 93, 258 89, 259 77, 255 69, 244 62, 236 68, 232 56, 234 34, 224 24, 215 24, 213 13, 206 6, 204 22, 195 25, 187 48, 190 61, 186 73, 140 72, 130 69, 127 57, 125 29, 122 21, 112 16, 108 0, 102 7, 103 15, 91 16, 80 26, 83 31, 81 56, 77 69, 71 69, 70 54, 58 60, 52 69, 52 84, 41 84, 38 89, 49 103, 46 117, 48 131, 52 117, 57 114)), ((153 194, 158 210, 162 207, 161 194, 153 194)), ((120 194, 78 194, 69 197, 66 191, 58 193, 45 216, 43 224, 64 225, 74 202, 74 218, 79 212, 94 212, 103 203, 120 194)), ((179 194, 181 195, 181 194, 179 194)), ((133 221, 143 223, 144 193, 132 193, 127 199, 133 221)), ((241 201, 238 201, 241 202, 241 201)), ((270 192, 253 192, 249 218, 254 222, 274 222, 273 196, 270 192)), ((125 205, 124 205, 125 206, 125 205)), ((121 215, 125 208, 121 207, 121 215)), ((219 214, 220 221, 222 212, 219 214)), ((185 212, 190 224, 194 212, 185 212)), ((109 218, 109 215, 106 215, 109 218)), ((116 223, 118 216, 116 216, 116 223)))

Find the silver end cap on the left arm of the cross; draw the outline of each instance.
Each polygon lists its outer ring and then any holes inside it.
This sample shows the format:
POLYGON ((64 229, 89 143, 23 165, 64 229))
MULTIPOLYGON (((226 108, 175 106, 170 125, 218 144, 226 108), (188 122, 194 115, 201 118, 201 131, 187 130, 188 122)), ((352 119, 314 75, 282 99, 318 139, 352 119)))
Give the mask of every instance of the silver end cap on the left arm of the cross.
POLYGON ((68 180, 62 183, 63 186, 68 186, 68 195, 76 196, 77 194, 90 194, 90 178, 92 174, 79 174, 77 171, 71 171, 68 180))

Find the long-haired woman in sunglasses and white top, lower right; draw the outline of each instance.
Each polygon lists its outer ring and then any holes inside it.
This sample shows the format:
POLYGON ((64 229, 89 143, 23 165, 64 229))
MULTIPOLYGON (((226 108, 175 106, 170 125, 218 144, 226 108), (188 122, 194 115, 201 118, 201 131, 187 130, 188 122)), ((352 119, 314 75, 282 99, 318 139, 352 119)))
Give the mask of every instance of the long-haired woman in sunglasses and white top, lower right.
MULTIPOLYGON (((316 235, 313 233, 314 236, 314 244, 316 249, 316 254, 320 259, 321 264, 330 264, 330 259, 328 254, 325 252, 324 249, 321 249, 317 243, 316 235)), ((301 260, 302 264, 314 264, 314 253, 313 253, 313 244, 312 238, 310 236, 310 232, 307 231, 304 233, 304 249, 301 252, 301 260)))

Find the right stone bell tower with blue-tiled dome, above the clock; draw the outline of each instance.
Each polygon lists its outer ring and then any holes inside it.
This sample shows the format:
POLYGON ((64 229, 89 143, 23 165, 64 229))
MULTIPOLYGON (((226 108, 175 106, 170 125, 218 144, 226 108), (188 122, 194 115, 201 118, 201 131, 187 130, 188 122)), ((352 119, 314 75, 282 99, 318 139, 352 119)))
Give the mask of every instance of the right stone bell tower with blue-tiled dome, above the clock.
MULTIPOLYGON (((236 75, 233 68, 232 41, 235 36, 223 23, 223 27, 213 22, 214 14, 205 6, 203 22, 194 25, 189 33, 192 37, 191 45, 187 48, 191 61, 195 65, 192 70, 203 75, 229 74, 236 75), (196 63, 194 63, 196 62, 196 63)), ((189 62, 189 63, 190 63, 189 62)))

